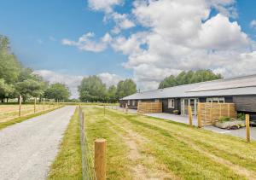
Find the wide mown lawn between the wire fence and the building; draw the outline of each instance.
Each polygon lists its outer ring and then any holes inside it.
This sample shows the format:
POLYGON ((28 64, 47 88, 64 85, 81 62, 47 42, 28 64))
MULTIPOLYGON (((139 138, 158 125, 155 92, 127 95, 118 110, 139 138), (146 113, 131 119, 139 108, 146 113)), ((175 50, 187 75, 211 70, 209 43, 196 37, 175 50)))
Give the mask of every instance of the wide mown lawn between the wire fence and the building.
POLYGON ((100 107, 84 112, 90 152, 96 138, 108 140, 108 179, 256 179, 255 142, 109 109, 104 116, 100 107))

